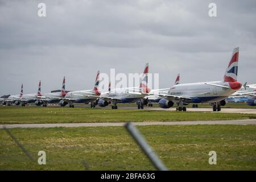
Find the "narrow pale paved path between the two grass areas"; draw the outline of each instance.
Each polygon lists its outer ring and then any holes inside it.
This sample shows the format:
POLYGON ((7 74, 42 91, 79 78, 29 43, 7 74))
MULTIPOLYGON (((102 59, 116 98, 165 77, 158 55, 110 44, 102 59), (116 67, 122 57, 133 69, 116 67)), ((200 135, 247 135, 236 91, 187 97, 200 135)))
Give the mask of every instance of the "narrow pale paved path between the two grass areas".
MULTIPOLYGON (((241 119, 229 121, 170 121, 170 122, 133 122, 135 126, 150 125, 256 125, 256 119, 241 119)), ((108 123, 46 123, 46 124, 11 124, 0 125, 0 129, 11 128, 42 128, 42 127, 95 127, 95 126, 124 126, 124 122, 108 123)))

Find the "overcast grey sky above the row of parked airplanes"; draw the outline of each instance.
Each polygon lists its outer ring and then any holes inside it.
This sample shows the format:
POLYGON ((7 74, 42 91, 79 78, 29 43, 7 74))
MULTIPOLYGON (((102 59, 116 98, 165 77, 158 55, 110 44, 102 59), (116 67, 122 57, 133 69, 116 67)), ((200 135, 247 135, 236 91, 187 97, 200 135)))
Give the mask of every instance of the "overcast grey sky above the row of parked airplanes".
POLYGON ((141 73, 149 63, 159 87, 222 80, 240 47, 238 81, 255 83, 256 1, 2 1, 0 96, 91 89, 96 72, 141 73), (46 17, 38 3, 46 3, 46 17), (209 17, 208 5, 217 5, 209 17))

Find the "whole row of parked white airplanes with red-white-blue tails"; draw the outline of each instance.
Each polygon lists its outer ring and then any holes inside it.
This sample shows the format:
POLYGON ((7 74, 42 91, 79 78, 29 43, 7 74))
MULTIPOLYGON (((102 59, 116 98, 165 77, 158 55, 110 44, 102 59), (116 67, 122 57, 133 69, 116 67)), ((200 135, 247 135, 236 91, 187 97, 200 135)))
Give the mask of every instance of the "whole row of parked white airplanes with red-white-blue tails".
MULTIPOLYGON (((134 103, 138 105, 138 109, 143 109, 144 105, 152 106, 152 102, 158 102, 162 108, 170 108, 177 104, 176 110, 186 111, 186 105, 208 102, 213 111, 220 111, 221 106, 226 104, 227 98, 239 96, 249 97, 248 104, 255 105, 255 90, 249 92, 238 91, 241 89, 242 84, 237 81, 238 70, 238 55, 239 48, 234 48, 231 59, 226 69, 222 81, 211 82, 196 82, 189 84, 180 84, 180 75, 176 77, 175 83, 171 88, 164 88, 158 90, 150 90, 148 88, 148 63, 143 69, 142 80, 138 87, 134 88, 115 88, 108 92, 101 92, 99 90, 100 72, 97 72, 95 84, 93 89, 78 90, 72 92, 65 92, 65 77, 61 92, 58 93, 41 93, 41 82, 39 82, 38 93, 36 94, 23 94, 23 85, 19 95, 10 96, 9 98, 1 98, 2 104, 25 106, 27 103, 35 102, 36 105, 47 106, 47 103, 57 103, 61 106, 69 105, 74 107, 73 103, 85 103, 95 107, 106 107, 112 103, 112 109, 117 109, 118 103, 134 103)), ((249 88, 249 85, 244 85, 249 88)))

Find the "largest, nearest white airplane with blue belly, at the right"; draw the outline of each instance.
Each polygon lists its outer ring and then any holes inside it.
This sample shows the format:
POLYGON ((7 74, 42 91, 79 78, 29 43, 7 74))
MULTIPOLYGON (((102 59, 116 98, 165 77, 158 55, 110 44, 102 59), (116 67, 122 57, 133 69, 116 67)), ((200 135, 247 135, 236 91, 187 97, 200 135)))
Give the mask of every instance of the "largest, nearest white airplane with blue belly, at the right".
POLYGON ((170 108, 176 103, 176 110, 186 111, 185 104, 208 102, 213 111, 221 111, 225 99, 242 87, 237 81, 238 54, 239 48, 234 48, 222 81, 177 84, 168 90, 168 94, 152 95, 163 97, 158 103, 162 108, 170 108))

